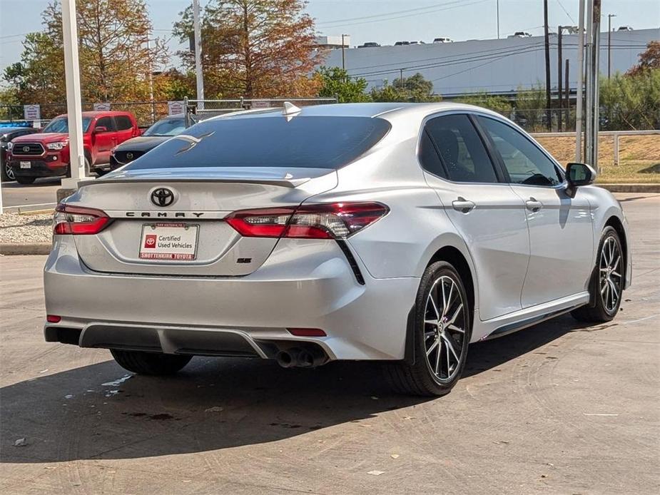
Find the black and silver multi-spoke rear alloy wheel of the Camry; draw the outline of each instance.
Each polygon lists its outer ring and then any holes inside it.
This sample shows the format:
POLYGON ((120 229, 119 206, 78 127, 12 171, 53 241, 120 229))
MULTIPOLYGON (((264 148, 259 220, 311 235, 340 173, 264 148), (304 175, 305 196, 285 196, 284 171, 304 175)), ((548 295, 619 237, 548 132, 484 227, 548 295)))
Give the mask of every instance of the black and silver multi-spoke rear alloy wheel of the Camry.
POLYGON ((439 382, 450 382, 464 359, 465 304, 456 282, 447 275, 431 287, 424 312, 427 364, 439 382))

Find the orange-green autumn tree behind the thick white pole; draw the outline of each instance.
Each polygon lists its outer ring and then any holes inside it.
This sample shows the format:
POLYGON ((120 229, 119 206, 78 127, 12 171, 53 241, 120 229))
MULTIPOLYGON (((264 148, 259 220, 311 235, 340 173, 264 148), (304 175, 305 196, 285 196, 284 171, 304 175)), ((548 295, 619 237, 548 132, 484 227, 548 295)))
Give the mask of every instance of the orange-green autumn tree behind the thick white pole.
MULTIPOLYGON (((150 96, 152 68, 167 61, 162 39, 151 38, 144 0, 86 0, 76 4, 83 101, 136 101, 150 96), (151 38, 151 39, 150 39, 151 38)), ((58 0, 42 14, 44 29, 26 36, 21 61, 4 78, 27 103, 64 102, 64 43, 58 0)))

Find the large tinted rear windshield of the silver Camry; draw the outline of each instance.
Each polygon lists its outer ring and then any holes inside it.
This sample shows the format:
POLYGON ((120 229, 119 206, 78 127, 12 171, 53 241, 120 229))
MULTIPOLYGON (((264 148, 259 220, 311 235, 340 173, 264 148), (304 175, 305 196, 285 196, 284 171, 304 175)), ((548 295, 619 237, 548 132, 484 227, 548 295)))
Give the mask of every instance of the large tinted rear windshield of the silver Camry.
POLYGON ((340 168, 380 141, 381 118, 284 116, 198 123, 124 170, 181 167, 340 168))

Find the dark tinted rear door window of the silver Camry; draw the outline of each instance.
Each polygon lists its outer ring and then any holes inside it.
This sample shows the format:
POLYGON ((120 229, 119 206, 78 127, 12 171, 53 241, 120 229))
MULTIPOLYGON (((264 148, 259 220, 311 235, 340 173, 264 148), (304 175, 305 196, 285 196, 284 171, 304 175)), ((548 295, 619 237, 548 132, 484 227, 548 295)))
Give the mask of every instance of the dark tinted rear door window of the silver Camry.
POLYGON ((450 180, 498 182, 484 143, 467 115, 433 118, 427 122, 426 129, 440 152, 440 159, 450 180))

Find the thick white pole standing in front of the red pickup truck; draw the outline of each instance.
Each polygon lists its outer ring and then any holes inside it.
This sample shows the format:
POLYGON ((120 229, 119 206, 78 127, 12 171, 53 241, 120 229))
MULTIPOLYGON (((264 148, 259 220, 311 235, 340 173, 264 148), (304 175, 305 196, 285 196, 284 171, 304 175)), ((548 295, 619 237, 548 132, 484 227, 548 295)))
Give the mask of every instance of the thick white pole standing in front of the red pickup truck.
MULTIPOLYGON (((66 118, 68 121, 68 166, 71 170, 71 178, 77 183, 78 179, 86 177, 86 170, 83 151, 83 106, 80 96, 76 0, 62 0, 62 34, 64 77, 66 79, 66 118)), ((64 180, 62 183, 64 185, 64 180)))

